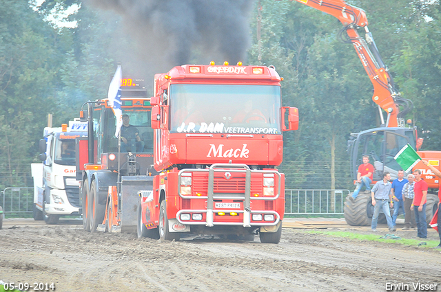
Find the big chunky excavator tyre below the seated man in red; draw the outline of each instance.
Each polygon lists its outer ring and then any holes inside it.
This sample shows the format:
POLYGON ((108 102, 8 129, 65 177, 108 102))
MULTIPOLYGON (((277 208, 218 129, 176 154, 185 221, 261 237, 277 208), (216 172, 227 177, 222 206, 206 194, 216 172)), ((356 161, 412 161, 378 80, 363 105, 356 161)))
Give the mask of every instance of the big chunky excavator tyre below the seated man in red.
POLYGON ((351 226, 369 226, 372 221, 373 205, 371 192, 360 192, 352 201, 352 194, 346 197, 345 215, 346 223, 351 226))

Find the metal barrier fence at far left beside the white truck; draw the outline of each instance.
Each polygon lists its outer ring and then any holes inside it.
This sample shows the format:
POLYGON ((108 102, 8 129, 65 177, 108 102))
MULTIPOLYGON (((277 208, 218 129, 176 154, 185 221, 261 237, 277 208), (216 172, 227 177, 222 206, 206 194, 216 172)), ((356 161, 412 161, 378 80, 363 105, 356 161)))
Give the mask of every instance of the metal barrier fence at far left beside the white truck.
POLYGON ((6 188, 1 192, 3 216, 32 213, 34 188, 6 188))

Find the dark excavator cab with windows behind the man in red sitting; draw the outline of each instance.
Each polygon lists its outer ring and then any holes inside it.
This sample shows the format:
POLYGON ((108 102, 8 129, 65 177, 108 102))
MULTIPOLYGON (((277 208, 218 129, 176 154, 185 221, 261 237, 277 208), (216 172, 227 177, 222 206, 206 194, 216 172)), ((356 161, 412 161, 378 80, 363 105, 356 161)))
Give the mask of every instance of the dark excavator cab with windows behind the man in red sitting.
POLYGON ((382 173, 391 173, 391 178, 398 177, 398 170, 402 169, 393 157, 400 149, 410 144, 416 148, 416 136, 413 128, 372 128, 360 133, 351 133, 348 141, 351 175, 357 178, 358 166, 362 164, 362 156, 369 155, 369 162, 375 168, 373 181, 382 179, 382 173))

